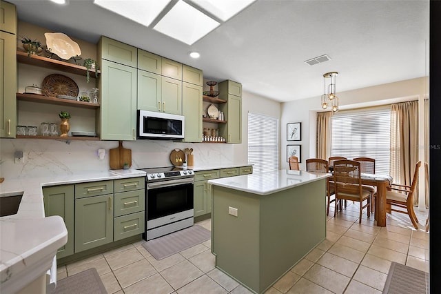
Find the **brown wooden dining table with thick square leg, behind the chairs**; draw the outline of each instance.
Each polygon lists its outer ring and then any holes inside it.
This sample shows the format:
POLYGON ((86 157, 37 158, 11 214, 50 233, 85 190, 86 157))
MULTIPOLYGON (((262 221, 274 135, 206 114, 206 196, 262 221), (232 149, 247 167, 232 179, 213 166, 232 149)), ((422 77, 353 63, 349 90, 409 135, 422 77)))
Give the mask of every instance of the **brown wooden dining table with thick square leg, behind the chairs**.
MULTIPOLYGON (((332 173, 334 166, 329 166, 329 172, 332 173)), ((386 191, 392 183, 392 177, 385 174, 361 173, 361 184, 366 186, 376 186, 377 197, 375 197, 374 215, 376 226, 386 226, 386 191)))

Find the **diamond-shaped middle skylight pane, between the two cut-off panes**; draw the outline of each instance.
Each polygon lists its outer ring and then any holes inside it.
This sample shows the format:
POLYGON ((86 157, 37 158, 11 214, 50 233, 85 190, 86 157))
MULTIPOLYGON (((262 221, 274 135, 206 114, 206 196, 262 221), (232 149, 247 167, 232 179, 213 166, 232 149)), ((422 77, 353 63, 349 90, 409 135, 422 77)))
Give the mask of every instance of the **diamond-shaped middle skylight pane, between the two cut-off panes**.
POLYGON ((183 1, 178 1, 153 29, 183 43, 192 45, 219 26, 219 24, 196 8, 189 6, 183 1))

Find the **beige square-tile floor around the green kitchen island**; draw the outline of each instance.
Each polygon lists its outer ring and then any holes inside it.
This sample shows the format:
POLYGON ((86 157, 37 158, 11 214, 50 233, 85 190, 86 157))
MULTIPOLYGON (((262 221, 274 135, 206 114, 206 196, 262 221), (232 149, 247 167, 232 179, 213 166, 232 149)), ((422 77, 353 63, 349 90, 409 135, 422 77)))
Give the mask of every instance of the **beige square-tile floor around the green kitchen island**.
MULTIPOLYGON (((429 272, 427 211, 416 211, 420 229, 407 215, 387 216, 373 225, 358 205, 327 218, 327 238, 276 282, 267 293, 381 293, 391 262, 429 272)), ((198 225, 211 230, 211 220, 198 225)), ((214 266, 210 241, 162 260, 136 242, 58 269, 58 279, 96 268, 108 293, 251 293, 214 266)))

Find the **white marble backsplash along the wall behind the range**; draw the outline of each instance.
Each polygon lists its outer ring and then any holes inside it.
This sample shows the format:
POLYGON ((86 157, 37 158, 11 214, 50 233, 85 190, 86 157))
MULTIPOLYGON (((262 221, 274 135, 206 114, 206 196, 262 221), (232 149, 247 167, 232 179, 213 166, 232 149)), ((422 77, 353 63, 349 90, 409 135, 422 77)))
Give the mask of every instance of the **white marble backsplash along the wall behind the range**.
MULTIPOLYGON (((246 158, 241 158, 242 144, 138 140, 124 141, 123 146, 132 150, 132 168, 172 166, 169 157, 174 148, 193 148, 194 166, 198 168, 247 162, 246 158)), ((118 141, 0 139, 0 177, 40 177, 109 170, 109 150, 117 147, 118 141), (105 149, 104 159, 98 157, 98 149, 101 148, 105 149), (23 164, 14 163, 15 151, 23 151, 23 164)))

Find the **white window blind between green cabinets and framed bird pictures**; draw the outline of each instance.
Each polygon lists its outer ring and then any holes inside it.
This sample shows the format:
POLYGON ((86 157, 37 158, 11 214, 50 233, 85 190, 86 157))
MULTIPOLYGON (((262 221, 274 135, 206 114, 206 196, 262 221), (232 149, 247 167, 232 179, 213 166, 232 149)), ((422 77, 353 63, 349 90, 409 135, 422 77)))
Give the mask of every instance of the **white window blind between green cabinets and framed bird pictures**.
POLYGON ((278 170, 278 119, 248 112, 248 163, 253 173, 278 170))

